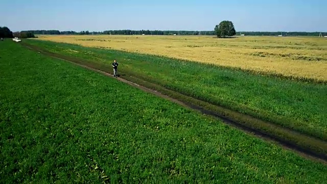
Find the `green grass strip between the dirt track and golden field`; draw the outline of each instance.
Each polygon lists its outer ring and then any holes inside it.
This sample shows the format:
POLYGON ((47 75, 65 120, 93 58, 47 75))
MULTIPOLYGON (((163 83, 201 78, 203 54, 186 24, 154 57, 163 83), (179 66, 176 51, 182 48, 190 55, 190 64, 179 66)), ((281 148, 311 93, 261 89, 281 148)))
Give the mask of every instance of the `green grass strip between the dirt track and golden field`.
POLYGON ((54 53, 86 59, 182 94, 327 140, 327 85, 255 75, 215 65, 80 45, 26 40, 54 53))

